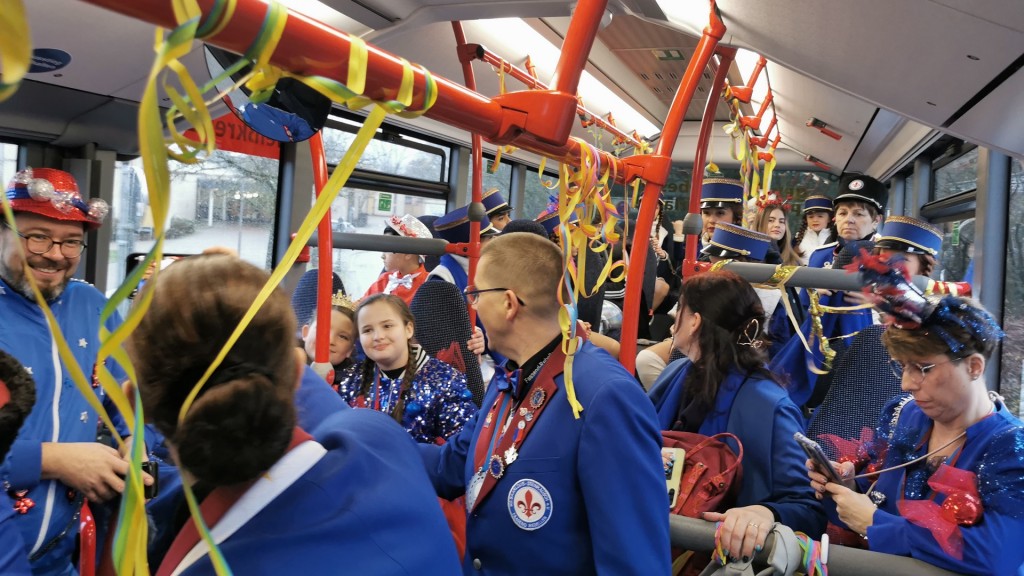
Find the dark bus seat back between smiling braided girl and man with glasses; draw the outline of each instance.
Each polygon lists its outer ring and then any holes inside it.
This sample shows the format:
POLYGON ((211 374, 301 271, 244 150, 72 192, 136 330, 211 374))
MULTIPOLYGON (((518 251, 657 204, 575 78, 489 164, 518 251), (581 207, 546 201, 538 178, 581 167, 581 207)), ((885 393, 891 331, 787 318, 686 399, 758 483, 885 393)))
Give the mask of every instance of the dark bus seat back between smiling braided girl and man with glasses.
POLYGON ((424 352, 466 374, 473 402, 479 406, 483 402, 483 376, 476 355, 466 346, 471 332, 462 292, 447 282, 424 282, 409 307, 416 318, 416 340, 424 352))

